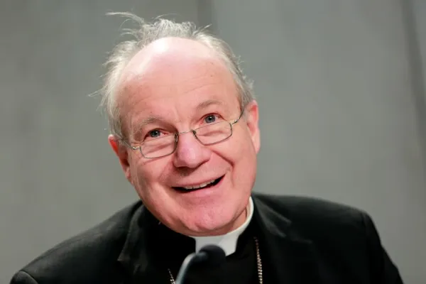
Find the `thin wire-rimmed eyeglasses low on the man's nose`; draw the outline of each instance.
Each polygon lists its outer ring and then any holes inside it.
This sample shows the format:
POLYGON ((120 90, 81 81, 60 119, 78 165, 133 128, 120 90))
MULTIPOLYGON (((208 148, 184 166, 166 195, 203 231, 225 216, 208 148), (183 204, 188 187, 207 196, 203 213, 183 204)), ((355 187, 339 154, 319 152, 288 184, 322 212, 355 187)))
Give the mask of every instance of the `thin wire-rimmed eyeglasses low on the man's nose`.
POLYGON ((130 146, 130 148, 133 150, 139 150, 143 158, 162 158, 175 152, 176 148, 178 148, 178 140, 181 134, 190 132, 195 136, 197 141, 202 143, 204 146, 217 144, 232 136, 232 126, 241 119, 243 113, 244 111, 241 112, 239 118, 234 121, 221 121, 214 124, 207 124, 206 126, 202 126, 197 129, 154 138, 152 140, 142 142, 139 146, 130 146))

